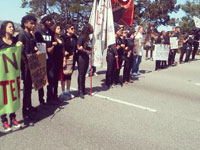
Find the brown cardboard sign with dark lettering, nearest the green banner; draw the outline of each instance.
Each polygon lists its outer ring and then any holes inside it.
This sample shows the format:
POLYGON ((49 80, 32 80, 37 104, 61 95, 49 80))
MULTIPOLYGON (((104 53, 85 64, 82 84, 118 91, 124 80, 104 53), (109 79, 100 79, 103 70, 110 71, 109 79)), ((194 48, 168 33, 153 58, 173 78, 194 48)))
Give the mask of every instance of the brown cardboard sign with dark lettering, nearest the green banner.
POLYGON ((38 90, 48 84, 46 72, 46 54, 30 54, 27 55, 27 59, 34 89, 38 90))

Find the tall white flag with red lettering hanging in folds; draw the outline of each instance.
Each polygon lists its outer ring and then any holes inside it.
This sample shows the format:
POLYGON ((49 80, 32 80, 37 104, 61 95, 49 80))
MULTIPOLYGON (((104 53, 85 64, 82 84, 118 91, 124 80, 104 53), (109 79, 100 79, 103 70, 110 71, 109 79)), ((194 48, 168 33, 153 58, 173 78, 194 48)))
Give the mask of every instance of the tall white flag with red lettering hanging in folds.
POLYGON ((94 28, 92 35, 93 66, 103 66, 103 51, 115 43, 113 14, 110 0, 95 0, 89 23, 94 28))

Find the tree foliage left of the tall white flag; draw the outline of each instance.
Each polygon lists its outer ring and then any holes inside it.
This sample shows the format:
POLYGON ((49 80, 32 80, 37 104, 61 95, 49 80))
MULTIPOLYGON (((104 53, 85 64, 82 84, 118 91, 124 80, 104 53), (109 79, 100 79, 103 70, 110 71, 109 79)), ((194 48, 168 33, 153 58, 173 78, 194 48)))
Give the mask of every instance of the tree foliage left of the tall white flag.
POLYGON ((77 28, 88 22, 93 0, 22 0, 22 7, 31 8, 37 18, 51 14, 56 22, 65 25, 73 21, 77 28))

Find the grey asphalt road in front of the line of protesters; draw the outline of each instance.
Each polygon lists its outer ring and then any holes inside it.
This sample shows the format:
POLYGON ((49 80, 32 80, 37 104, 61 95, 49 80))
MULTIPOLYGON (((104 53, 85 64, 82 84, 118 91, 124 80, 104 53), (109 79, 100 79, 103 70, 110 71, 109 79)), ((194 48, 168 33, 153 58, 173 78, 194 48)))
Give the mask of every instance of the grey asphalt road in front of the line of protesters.
MULTIPOLYGON (((200 56, 159 71, 143 60, 134 83, 109 90, 100 68, 93 96, 38 107, 39 120, 20 130, 5 134, 0 128, 0 150, 199 150, 199 66, 200 56)), ((72 87, 76 95, 77 71, 72 87)), ((32 99, 38 106, 37 92, 32 99)))

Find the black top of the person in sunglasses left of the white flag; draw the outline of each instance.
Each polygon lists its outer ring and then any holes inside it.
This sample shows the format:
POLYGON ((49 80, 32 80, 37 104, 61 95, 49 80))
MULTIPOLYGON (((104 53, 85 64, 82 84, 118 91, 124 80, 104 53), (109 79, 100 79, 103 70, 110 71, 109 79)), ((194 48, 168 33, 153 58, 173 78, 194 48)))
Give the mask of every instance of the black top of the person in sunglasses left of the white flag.
POLYGON ((65 45, 65 51, 69 52, 69 55, 75 53, 77 49, 77 37, 75 35, 68 36, 64 35, 64 45, 65 45))

